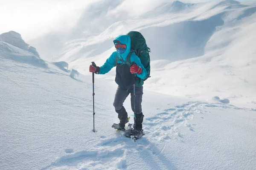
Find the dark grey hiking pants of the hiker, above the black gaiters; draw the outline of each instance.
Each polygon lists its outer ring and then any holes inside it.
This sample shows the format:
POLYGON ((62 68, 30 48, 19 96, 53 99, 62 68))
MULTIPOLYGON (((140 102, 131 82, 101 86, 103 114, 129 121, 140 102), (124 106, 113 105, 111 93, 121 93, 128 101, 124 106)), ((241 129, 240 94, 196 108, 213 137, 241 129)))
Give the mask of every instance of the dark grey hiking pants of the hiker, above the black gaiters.
MULTIPOLYGON (((118 86, 116 90, 116 95, 114 99, 113 106, 116 110, 120 110, 123 107, 123 103, 129 94, 131 94, 131 109, 134 112, 134 94, 133 87, 127 89, 122 89, 118 86)), ((141 113, 141 102, 143 95, 143 87, 135 87, 135 113, 141 113)))

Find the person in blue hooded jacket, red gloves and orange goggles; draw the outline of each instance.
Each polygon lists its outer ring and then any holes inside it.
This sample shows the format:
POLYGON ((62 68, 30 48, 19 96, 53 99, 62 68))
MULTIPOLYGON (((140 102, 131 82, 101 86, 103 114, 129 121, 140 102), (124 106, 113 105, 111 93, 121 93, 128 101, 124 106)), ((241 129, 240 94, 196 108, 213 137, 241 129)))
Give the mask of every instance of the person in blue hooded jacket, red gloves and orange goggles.
POLYGON ((106 74, 113 67, 116 66, 116 78, 115 81, 118 85, 113 106, 116 113, 118 113, 118 118, 120 120, 119 127, 124 130, 125 124, 129 122, 128 114, 123 106, 123 103, 127 96, 131 94, 131 109, 136 117, 136 136, 142 133, 142 96, 143 96, 143 79, 147 75, 147 71, 141 63, 140 58, 135 53, 130 53, 131 50, 131 38, 128 35, 119 35, 113 40, 116 51, 114 51, 111 56, 106 60, 105 64, 101 67, 96 65, 90 65, 90 72, 96 74, 106 74), (130 56, 129 56, 130 55, 130 56), (131 57, 128 62, 128 56, 131 57), (133 99, 133 84, 134 78, 133 74, 136 76, 135 82, 135 103, 133 99), (135 111, 134 111, 135 104, 135 111))

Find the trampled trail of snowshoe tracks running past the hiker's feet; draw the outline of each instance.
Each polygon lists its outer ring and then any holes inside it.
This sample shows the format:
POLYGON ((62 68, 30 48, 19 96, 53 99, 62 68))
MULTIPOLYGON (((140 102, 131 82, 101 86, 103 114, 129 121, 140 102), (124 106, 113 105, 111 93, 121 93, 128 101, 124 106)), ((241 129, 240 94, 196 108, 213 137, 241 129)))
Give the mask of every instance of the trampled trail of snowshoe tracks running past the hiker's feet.
MULTIPOLYGON (((173 105, 173 104, 168 104, 173 105)), ((190 124, 189 120, 195 115, 204 119, 204 114, 210 113, 207 108, 223 108, 255 111, 253 109, 238 108, 233 105, 225 105, 221 103, 206 103, 206 102, 188 102, 182 105, 176 105, 169 109, 165 109, 155 116, 145 118, 143 121, 145 136, 138 139, 136 143, 133 140, 126 138, 122 133, 113 133, 113 135, 98 136, 100 139, 93 139, 90 144, 98 142, 93 148, 95 150, 82 150, 73 153, 73 149, 67 148, 64 156, 52 161, 41 170, 91 170, 91 169, 129 169, 128 162, 129 153, 143 152, 154 156, 161 156, 165 148, 165 143, 172 138, 178 140, 183 139, 183 134, 180 133, 178 127, 185 126, 187 130, 194 132, 195 124, 190 124), (204 110, 204 111, 203 111, 204 110), (161 125, 161 126, 159 126, 161 125), (116 138, 113 137, 116 134, 116 138), (105 139, 107 138, 108 139, 105 139), (103 165, 103 166, 102 166, 103 165)), ((160 109, 157 109, 160 110, 160 109)), ((167 169, 172 167, 166 167, 167 169)))

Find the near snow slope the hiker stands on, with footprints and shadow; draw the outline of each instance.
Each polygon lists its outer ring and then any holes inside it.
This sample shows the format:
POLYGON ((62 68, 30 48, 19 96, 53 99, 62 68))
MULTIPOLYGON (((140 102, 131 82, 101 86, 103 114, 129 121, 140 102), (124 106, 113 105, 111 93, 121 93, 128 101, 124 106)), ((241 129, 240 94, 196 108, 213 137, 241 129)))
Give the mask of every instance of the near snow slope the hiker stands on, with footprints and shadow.
MULTIPOLYGON (((96 77, 93 133, 91 75, 72 79, 65 62, 35 57, 0 42, 1 170, 256 168, 255 107, 145 89, 146 134, 134 143, 111 128, 116 84, 96 77)), ((129 99, 125 107, 132 117, 129 99)))

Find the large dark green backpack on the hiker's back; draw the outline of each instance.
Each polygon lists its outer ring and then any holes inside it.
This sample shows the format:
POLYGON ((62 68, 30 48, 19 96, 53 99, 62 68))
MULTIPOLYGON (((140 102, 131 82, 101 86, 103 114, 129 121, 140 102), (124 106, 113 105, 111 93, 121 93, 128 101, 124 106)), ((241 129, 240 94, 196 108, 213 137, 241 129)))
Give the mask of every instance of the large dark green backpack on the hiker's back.
POLYGON ((131 51, 126 57, 126 62, 131 63, 131 54, 135 53, 147 71, 147 76, 143 79, 145 81, 150 77, 150 48, 148 48, 146 40, 140 32, 130 31, 126 35, 131 38, 131 51))

